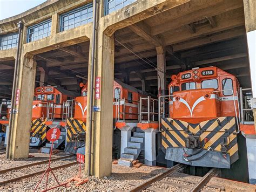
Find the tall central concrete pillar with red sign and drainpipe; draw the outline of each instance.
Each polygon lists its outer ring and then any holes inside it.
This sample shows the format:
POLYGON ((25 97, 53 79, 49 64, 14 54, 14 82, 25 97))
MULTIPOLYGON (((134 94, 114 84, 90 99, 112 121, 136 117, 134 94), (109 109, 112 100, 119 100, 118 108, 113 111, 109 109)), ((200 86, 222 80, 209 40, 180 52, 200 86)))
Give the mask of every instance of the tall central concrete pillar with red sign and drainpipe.
MULTIPOLYGON (((91 48, 90 53, 91 54, 91 48)), ((100 99, 94 101, 93 105, 100 107, 100 111, 93 112, 90 116, 89 110, 92 106, 87 104, 87 125, 93 118, 92 126, 92 175, 103 177, 112 172, 112 132, 113 132, 113 80, 114 80, 114 38, 104 35, 103 29, 99 25, 96 41, 95 57, 95 77, 100 77, 100 99)), ((91 59, 91 57, 89 56, 91 59)), ((91 61, 89 60, 88 72, 88 101, 90 100, 91 85, 91 61)), ((95 96, 94 96, 95 99, 95 96)), ((86 150, 89 150, 89 135, 86 133, 86 150)), ((88 155, 85 156, 85 162, 88 162, 88 155)), ((88 173, 87 166, 85 172, 88 173)))

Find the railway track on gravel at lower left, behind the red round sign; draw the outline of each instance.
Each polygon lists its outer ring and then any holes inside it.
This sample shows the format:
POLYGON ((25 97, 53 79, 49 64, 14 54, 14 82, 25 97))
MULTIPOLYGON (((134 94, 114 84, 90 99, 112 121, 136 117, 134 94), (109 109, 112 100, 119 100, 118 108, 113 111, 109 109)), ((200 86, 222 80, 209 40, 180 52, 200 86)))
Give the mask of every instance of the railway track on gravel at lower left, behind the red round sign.
MULTIPOLYGON (((77 164, 76 160, 73 161, 73 159, 71 159, 73 156, 75 156, 75 155, 65 155, 62 157, 53 158, 51 161, 53 161, 52 164, 55 164, 55 165, 53 165, 51 167, 51 169, 56 170, 56 169, 60 169, 60 168, 64 168, 64 167, 70 167, 73 164, 77 164), (68 159, 70 159, 70 160, 68 160, 68 159), (59 160, 61 160, 61 161, 58 162, 59 160), (63 163, 63 161, 65 162, 65 160, 68 160, 69 162, 63 163), (59 165, 59 163, 62 163, 62 164, 59 165)), ((2 179, 4 179, 4 180, 0 181, 0 186, 2 184, 15 182, 15 181, 18 181, 18 180, 21 180, 24 178, 28 178, 28 177, 31 177, 34 175, 44 173, 46 167, 48 166, 48 162, 49 162, 49 160, 44 160, 44 161, 38 161, 38 162, 34 162, 34 163, 29 163, 29 164, 23 164, 23 165, 17 166, 17 167, 0 169, 0 177, 2 179), (38 166, 39 166, 40 170, 38 170, 36 172, 32 172, 32 170, 38 169, 38 166), (19 173, 18 176, 15 173, 19 173)))

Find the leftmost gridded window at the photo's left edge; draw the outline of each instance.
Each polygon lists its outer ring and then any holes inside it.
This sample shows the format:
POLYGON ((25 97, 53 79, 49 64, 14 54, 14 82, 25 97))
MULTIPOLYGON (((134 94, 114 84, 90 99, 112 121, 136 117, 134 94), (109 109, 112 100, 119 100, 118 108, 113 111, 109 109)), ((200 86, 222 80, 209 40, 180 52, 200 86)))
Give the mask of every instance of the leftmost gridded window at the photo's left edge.
POLYGON ((0 36, 0 50, 11 49, 17 47, 18 33, 11 33, 0 36))

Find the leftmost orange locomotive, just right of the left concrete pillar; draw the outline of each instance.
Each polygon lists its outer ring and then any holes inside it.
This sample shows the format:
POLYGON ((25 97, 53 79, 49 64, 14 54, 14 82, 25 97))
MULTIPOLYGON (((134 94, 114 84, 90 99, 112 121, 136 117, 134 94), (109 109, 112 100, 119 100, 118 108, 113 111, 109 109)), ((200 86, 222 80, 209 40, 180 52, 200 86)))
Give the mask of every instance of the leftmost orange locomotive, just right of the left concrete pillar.
POLYGON ((64 103, 74 99, 78 93, 63 88, 37 87, 32 106, 32 125, 30 146, 39 146, 45 141, 47 127, 64 126, 64 103))

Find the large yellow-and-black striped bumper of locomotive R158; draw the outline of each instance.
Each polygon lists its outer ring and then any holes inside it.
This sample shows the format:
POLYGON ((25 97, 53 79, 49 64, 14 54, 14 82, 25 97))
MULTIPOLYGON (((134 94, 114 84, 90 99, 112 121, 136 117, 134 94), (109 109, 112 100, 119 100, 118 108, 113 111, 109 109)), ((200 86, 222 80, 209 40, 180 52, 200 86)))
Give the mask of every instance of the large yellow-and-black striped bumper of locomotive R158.
MULTIPOLYGON (((163 145, 164 152, 166 152, 168 148, 172 148, 168 149, 169 153, 179 153, 181 156, 183 156, 185 152, 184 148, 186 148, 186 139, 189 135, 194 135, 199 136, 200 138, 202 145, 201 148, 203 149, 201 155, 203 155, 205 152, 211 154, 210 156, 212 158, 218 155, 220 158, 223 158, 224 161, 229 161, 229 164, 232 164, 238 160, 238 143, 237 134, 235 133, 236 122, 234 117, 224 116, 203 121, 199 124, 189 124, 185 121, 172 118, 161 118, 161 128, 163 130, 161 135, 161 143, 163 145), (207 142, 205 139, 207 139, 207 142), (226 146, 226 154, 221 153, 223 152, 221 150, 221 145, 223 146, 224 141, 226 146)), ((190 153, 194 153, 195 150, 197 149, 188 149, 190 153)), ((167 156, 170 155, 171 154, 168 154, 167 156)), ((175 157, 175 155, 170 158, 171 160, 180 159, 180 157, 175 157)), ((207 159, 206 157, 204 158, 207 159)), ((183 156, 182 159, 182 161, 184 161, 186 158, 183 156)), ((191 159, 193 159, 193 157, 191 157, 191 159)), ((200 166, 205 166, 205 164, 201 162, 200 166)))

